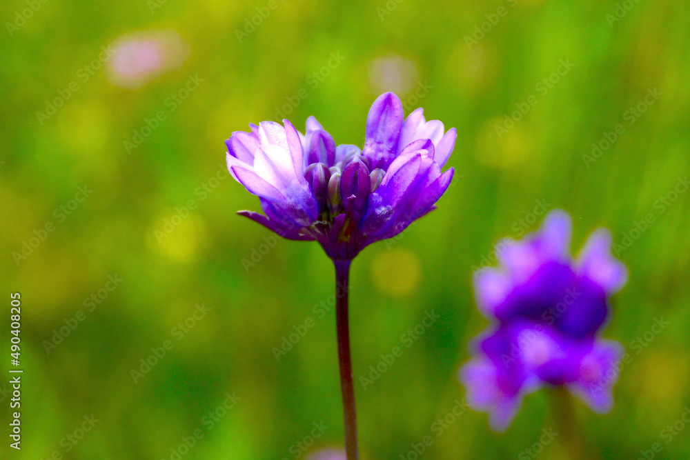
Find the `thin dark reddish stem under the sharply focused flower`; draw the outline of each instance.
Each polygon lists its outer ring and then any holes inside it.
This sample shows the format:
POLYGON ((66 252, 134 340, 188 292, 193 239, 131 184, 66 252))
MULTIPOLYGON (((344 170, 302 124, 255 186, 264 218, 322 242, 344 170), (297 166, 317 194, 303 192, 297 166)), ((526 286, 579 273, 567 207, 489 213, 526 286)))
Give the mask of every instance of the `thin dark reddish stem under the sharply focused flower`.
POLYGON ((348 326, 350 262, 333 261, 335 264, 335 316, 338 336, 338 363, 340 366, 340 388, 342 389, 345 418, 345 451, 347 453, 347 460, 357 460, 359 459, 359 454, 357 454, 357 413, 355 411, 355 388, 352 382, 350 328, 348 326))

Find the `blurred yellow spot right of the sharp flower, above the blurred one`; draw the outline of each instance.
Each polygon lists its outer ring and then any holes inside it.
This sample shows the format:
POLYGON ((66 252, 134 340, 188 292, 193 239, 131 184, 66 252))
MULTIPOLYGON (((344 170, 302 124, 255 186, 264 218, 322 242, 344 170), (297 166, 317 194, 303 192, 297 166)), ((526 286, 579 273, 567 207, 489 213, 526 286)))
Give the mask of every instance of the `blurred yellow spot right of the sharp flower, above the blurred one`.
POLYGON ((529 159, 532 139, 521 122, 510 116, 485 121, 477 134, 477 159, 495 168, 510 168, 529 159))

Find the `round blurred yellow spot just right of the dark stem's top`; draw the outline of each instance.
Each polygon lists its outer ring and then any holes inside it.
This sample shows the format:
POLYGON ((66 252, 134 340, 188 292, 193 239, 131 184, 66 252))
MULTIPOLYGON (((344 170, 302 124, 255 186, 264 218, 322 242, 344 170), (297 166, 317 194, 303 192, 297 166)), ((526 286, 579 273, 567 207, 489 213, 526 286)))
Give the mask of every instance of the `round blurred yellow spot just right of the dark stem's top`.
POLYGON ((391 297, 405 297, 420 282, 420 261, 411 250, 382 251, 371 262, 371 279, 377 290, 391 297))

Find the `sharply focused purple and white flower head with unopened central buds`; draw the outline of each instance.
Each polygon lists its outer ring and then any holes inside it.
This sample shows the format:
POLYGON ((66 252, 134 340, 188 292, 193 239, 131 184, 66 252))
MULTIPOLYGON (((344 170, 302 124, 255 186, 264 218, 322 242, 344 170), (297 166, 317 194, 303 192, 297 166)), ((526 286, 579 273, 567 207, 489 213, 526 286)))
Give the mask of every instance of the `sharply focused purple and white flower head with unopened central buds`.
POLYGON ((287 120, 250 125, 226 141, 228 170, 257 195, 264 214, 241 211, 287 239, 318 241, 331 259, 351 260, 435 209, 453 168, 441 168, 455 128, 426 121, 421 108, 403 119, 402 103, 382 94, 366 120, 364 150, 336 146, 314 117, 306 133, 287 120))

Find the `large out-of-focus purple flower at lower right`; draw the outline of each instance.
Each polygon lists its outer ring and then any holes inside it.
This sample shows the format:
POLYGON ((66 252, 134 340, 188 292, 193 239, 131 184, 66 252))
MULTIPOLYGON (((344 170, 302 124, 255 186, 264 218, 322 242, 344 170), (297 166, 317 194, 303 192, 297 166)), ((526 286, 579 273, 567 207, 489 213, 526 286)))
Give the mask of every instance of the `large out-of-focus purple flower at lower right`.
POLYGON ((498 268, 475 272, 477 305, 494 324, 473 341, 475 356, 460 380, 471 406, 489 412, 494 430, 505 430, 522 398, 544 385, 566 386, 596 412, 613 405, 624 349, 600 331, 627 270, 611 255, 604 228, 573 260, 571 230, 570 216, 554 210, 538 232, 497 250, 498 268))

